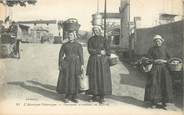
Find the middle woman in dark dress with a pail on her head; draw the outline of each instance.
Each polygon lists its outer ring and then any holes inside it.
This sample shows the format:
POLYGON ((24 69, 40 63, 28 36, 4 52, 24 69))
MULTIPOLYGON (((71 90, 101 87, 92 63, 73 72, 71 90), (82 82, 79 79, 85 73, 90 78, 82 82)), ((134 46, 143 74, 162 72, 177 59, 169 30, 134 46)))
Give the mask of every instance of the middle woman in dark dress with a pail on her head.
POLYGON ((103 103, 105 95, 112 94, 112 83, 108 56, 110 46, 107 40, 101 36, 101 28, 93 27, 94 36, 88 41, 88 52, 90 54, 86 75, 89 76, 88 94, 93 95, 90 101, 103 103))

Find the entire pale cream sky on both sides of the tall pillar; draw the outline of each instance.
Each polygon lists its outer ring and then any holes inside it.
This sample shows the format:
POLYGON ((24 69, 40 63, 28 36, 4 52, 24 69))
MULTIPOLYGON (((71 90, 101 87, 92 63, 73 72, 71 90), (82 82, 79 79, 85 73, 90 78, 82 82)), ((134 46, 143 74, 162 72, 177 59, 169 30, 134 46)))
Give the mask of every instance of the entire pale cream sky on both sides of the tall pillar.
MULTIPOLYGON (((119 12, 121 0, 107 0, 107 12, 119 12)), ((170 12, 182 15, 182 0, 131 0, 131 21, 134 16, 141 16, 142 26, 153 26, 160 12, 170 12)), ((104 11, 104 0, 99 0, 99 10, 104 11)), ((66 20, 77 18, 82 30, 90 30, 92 14, 97 11, 97 0, 38 0, 35 6, 15 6, 13 19, 39 20, 56 19, 66 20)), ((0 14, 4 9, 0 6, 0 14)), ((2 16, 0 16, 2 19, 2 16)))

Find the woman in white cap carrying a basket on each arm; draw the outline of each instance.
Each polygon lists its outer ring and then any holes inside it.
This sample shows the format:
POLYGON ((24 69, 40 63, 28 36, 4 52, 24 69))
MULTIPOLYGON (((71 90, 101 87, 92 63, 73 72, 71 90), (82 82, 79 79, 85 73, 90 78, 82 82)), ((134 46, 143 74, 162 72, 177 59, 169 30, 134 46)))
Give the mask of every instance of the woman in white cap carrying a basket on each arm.
POLYGON ((145 101, 151 102, 152 107, 166 107, 173 99, 172 81, 166 67, 170 55, 163 46, 164 39, 160 35, 153 38, 154 46, 148 51, 147 57, 153 60, 153 67, 148 72, 145 89, 145 101))

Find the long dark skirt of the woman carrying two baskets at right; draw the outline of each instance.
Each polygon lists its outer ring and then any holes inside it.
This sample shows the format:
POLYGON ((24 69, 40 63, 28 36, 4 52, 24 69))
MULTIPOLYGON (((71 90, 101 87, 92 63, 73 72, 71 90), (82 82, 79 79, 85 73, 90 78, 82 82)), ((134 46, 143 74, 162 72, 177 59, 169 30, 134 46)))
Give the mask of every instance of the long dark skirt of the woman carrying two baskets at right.
POLYGON ((172 102, 172 100, 172 80, 166 65, 154 65, 147 75, 144 101, 156 104, 159 102, 172 102))

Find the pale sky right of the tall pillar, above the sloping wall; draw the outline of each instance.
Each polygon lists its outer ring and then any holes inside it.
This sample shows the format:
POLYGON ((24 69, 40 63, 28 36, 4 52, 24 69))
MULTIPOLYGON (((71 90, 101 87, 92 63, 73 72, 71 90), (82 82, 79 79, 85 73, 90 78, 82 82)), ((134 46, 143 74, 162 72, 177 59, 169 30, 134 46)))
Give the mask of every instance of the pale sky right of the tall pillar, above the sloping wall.
POLYGON ((176 14, 180 20, 182 11, 182 0, 131 0, 131 18, 141 16, 142 27, 158 25, 161 13, 176 14))

